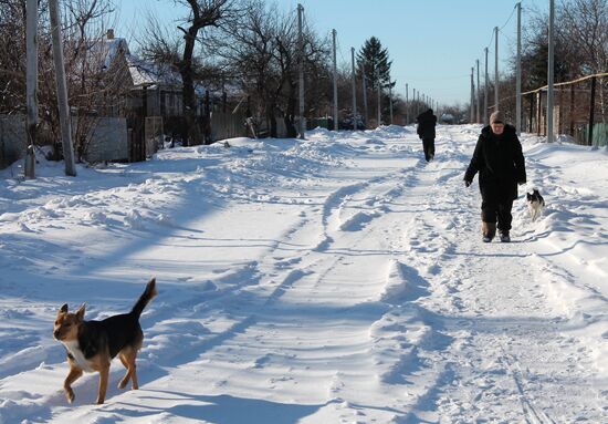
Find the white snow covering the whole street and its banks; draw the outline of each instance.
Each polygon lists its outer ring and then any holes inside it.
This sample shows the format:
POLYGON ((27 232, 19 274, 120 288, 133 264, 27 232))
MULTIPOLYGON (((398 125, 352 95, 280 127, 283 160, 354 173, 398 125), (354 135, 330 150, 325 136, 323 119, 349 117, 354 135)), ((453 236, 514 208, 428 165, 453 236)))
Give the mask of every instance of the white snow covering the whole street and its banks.
POLYGON ((482 244, 479 125, 230 139, 0 176, 0 423, 608 422, 608 151, 522 136, 513 242, 482 244), (532 221, 525 189, 546 208, 532 221), (128 311, 139 390, 63 394, 57 309, 128 311))

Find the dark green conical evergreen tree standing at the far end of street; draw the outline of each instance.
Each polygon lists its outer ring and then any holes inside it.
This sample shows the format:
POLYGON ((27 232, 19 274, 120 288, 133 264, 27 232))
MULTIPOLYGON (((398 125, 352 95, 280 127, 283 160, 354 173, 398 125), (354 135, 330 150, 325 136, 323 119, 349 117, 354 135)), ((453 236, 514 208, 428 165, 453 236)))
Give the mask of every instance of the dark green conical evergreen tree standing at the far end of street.
POLYGON ((359 77, 365 75, 369 89, 377 86, 378 79, 384 89, 395 86, 395 82, 390 81, 391 64, 392 61, 388 60, 388 50, 382 49, 380 40, 376 37, 367 40, 357 53, 357 74, 359 77))

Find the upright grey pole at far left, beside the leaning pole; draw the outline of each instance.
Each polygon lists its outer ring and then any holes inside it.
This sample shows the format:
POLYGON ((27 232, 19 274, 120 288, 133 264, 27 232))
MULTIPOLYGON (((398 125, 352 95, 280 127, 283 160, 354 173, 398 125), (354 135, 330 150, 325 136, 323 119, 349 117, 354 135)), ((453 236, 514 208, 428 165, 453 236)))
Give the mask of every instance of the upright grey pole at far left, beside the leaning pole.
POLYGON ((27 4, 27 103, 28 116, 25 134, 28 136, 25 146, 24 177, 35 178, 35 154, 34 146, 38 132, 38 0, 28 0, 27 4))

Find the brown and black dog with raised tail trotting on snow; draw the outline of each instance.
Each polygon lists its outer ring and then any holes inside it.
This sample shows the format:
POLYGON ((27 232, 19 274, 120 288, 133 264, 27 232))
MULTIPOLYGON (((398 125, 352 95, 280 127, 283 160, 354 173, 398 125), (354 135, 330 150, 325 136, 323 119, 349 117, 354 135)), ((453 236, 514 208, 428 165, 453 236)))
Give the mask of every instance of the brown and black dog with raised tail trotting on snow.
POLYGON ((74 401, 72 383, 82 376, 83 371, 99 373, 97 403, 104 403, 109 363, 116 355, 127 369, 118 387, 124 389, 129 379, 133 389, 138 387, 135 359, 144 340, 139 316, 156 294, 156 279, 153 278, 129 313, 109 317, 103 321, 85 321, 84 304, 75 313, 67 312, 67 303, 61 307, 53 337, 62 342, 67 351, 70 373, 63 382, 63 389, 70 403, 74 401))

